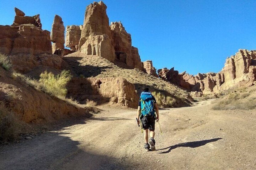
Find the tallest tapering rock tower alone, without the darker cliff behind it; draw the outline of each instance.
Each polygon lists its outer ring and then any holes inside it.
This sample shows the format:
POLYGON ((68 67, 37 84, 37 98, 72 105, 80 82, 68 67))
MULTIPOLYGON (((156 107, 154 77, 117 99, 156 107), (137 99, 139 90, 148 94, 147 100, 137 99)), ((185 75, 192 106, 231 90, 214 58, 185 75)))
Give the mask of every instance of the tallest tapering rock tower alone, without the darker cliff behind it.
POLYGON ((86 7, 79 50, 87 55, 98 55, 114 62, 115 52, 106 9, 107 6, 102 1, 86 7))

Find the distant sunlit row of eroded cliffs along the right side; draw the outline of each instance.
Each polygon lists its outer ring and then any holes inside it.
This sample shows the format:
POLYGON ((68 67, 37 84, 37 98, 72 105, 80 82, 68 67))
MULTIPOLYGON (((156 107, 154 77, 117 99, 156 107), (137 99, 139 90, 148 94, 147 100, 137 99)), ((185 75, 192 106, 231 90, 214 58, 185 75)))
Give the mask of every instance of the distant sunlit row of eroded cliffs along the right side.
POLYGON ((239 49, 235 55, 226 59, 225 65, 219 73, 198 73, 196 76, 185 72, 181 73, 180 84, 176 81, 177 74, 169 75, 166 68, 158 70, 158 74, 162 79, 167 79, 190 91, 202 91, 204 94, 251 86, 256 81, 256 51, 239 49))

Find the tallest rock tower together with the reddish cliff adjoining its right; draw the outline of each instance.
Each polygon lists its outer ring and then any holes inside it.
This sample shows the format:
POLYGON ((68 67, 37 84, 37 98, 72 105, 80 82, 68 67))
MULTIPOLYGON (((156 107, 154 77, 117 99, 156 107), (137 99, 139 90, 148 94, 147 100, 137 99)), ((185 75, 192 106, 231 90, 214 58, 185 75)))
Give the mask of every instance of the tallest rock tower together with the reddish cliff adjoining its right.
MULTIPOLYGON (((101 56, 111 62, 121 61, 130 68, 144 70, 138 49, 132 46, 131 35, 126 32, 121 22, 111 22, 109 26, 106 9, 107 6, 102 1, 86 7, 79 50, 88 55, 101 56)), ((66 44, 67 42, 66 40, 66 44)), ((69 47, 76 49, 72 45, 69 47)))

